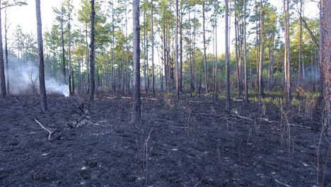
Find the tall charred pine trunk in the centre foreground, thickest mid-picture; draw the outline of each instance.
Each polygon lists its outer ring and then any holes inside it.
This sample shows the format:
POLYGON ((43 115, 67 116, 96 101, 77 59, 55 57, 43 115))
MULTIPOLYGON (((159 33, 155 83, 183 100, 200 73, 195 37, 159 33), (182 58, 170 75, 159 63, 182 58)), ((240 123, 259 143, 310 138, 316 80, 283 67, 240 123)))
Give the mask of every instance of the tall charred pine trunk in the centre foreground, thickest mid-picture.
POLYGON ((134 62, 134 107, 133 118, 134 123, 140 123, 141 120, 141 100, 140 100, 140 49, 139 49, 139 0, 133 0, 133 62, 134 62))

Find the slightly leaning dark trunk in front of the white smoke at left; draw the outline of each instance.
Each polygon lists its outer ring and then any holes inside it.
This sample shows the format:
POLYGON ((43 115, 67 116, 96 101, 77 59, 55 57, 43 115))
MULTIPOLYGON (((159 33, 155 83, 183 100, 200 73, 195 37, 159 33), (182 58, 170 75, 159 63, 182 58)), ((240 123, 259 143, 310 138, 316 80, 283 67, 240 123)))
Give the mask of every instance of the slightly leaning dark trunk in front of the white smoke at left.
MULTIPOLYGON (((40 13, 40 0, 35 0, 35 11, 36 11, 36 16, 37 16, 37 42, 38 42, 38 55, 39 55, 40 106, 41 106, 42 111, 47 111, 47 98, 46 98, 46 88, 45 88, 45 70, 44 70, 44 52, 43 52, 43 49, 42 49, 42 47, 43 47, 42 46, 42 21, 41 21, 41 13, 40 13)), ((0 45, 1 44, 2 43, 0 42, 0 45)), ((0 52, 1 52, 1 55, 2 55, 1 50, 0 50, 0 52)))

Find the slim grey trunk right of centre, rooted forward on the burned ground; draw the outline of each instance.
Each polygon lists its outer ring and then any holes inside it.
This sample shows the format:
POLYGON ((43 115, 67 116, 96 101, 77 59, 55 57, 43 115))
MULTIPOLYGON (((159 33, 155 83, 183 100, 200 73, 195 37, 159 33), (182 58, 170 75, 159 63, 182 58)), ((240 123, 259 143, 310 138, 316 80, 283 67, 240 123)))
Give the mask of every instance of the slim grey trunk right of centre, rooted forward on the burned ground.
POLYGON ((230 56, 228 54, 228 0, 226 3, 226 30, 225 30, 225 40, 226 40, 226 111, 230 111, 230 56))

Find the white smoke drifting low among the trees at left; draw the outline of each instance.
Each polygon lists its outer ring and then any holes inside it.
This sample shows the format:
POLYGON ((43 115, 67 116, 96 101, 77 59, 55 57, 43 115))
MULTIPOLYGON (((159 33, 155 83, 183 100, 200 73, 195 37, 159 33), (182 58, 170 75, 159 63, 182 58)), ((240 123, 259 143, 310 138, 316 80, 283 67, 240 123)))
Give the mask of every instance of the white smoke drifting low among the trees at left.
MULTIPOLYGON (((39 69, 31 62, 13 62, 8 69, 6 79, 9 79, 10 94, 37 94, 39 91, 39 69)), ((62 94, 69 96, 69 87, 52 77, 45 76, 47 94, 62 94)))

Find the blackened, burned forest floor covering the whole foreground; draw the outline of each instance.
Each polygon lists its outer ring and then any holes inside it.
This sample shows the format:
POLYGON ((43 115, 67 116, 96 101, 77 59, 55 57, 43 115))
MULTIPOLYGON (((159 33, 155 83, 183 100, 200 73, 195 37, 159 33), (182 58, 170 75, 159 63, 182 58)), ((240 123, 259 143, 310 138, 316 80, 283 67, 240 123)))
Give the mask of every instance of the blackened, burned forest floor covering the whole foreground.
POLYGON ((0 186, 331 186, 330 137, 257 103, 0 98, 0 186), (40 124, 52 132, 49 132, 40 124))

